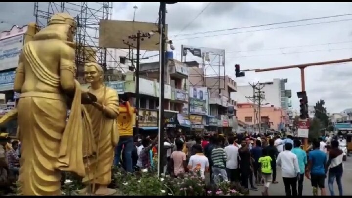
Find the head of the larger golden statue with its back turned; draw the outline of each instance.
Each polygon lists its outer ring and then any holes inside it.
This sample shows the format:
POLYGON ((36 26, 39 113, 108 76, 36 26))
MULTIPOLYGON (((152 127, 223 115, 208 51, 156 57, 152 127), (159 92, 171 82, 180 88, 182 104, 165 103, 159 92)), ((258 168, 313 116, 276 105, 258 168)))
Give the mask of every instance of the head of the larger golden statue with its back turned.
POLYGON ((48 26, 63 25, 66 26, 67 41, 73 42, 76 34, 77 23, 72 16, 67 13, 56 13, 48 22, 48 26))

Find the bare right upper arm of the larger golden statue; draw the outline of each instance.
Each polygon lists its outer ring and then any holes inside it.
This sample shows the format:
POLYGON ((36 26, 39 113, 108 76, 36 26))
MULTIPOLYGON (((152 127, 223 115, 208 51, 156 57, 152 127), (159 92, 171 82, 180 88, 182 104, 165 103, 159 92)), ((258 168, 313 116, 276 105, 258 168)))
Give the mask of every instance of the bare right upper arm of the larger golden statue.
POLYGON ((64 45, 60 57, 60 83, 64 91, 72 93, 75 90, 75 51, 72 47, 64 45))

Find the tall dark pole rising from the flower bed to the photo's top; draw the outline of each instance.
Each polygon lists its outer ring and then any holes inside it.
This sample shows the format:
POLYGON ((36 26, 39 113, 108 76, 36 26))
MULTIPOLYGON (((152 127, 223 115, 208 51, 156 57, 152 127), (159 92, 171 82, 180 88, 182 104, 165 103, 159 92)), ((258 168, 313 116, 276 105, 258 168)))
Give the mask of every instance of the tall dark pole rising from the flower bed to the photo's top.
POLYGON ((166 17, 166 2, 160 2, 159 8, 159 31, 160 31, 160 41, 159 41, 159 127, 158 127, 158 176, 164 171, 164 87, 165 87, 165 17, 166 17))

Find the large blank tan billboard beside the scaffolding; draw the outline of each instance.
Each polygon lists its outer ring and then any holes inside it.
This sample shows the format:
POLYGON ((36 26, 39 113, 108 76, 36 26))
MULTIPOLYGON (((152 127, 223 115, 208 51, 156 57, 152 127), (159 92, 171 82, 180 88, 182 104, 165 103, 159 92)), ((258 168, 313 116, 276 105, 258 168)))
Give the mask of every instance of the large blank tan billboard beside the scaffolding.
MULTIPOLYGON (((142 33, 154 32, 154 35, 140 43, 141 50, 159 50, 159 33, 158 24, 153 22, 131 22, 131 21, 116 21, 116 20, 100 20, 99 25, 99 47, 128 49, 129 46, 124 44, 129 41, 133 46, 137 46, 136 41, 129 39, 131 35, 136 35, 138 30, 142 33)), ((167 35, 167 25, 165 28, 167 35)))

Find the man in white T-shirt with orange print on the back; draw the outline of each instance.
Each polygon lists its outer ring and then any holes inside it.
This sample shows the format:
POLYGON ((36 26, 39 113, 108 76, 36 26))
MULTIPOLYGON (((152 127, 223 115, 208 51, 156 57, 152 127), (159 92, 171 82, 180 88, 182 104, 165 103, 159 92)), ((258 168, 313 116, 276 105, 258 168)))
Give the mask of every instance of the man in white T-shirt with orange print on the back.
POLYGON ((204 173, 209 172, 209 160, 203 154, 203 149, 200 145, 193 146, 196 154, 192 155, 188 162, 188 170, 193 172, 200 172, 200 176, 204 178, 204 173))

